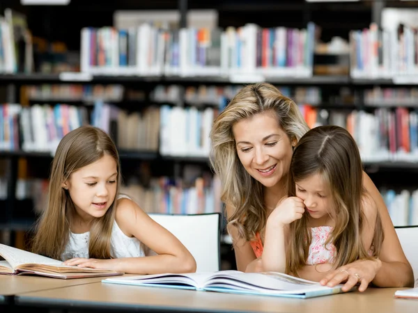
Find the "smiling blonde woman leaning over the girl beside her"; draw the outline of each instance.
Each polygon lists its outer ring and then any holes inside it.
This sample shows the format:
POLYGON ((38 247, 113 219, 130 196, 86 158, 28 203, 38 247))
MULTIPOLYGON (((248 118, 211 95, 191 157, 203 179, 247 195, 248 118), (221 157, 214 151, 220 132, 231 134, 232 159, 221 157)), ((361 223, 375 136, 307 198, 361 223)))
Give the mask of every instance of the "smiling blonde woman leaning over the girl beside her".
MULTIPOLYGON (((287 198, 293 149, 307 131, 297 105, 269 83, 242 88, 213 123, 211 163, 222 181, 222 201, 240 271, 264 271, 261 255, 267 220, 287 198)), ((357 273, 364 282, 361 291, 370 282, 380 287, 410 287, 412 268, 385 202, 365 172, 362 184, 378 208, 385 234, 378 258, 360 259, 346 264, 344 271, 336 268, 327 273, 306 265, 298 274, 334 286, 357 273)), ((345 289, 355 283, 347 280, 345 289)))

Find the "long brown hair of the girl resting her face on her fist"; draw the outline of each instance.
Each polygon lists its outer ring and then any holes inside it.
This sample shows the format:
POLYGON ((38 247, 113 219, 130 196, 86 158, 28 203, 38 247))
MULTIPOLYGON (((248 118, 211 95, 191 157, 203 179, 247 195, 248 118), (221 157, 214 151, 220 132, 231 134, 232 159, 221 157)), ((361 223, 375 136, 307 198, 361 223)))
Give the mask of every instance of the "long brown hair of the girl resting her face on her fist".
MULTIPOLYGON (((327 243, 334 244, 336 256, 334 268, 369 258, 362 239, 364 202, 373 201, 363 187, 362 161, 357 145, 350 133, 337 126, 315 127, 307 132, 293 151, 291 170, 288 175, 289 196, 295 196, 295 182, 311 175, 320 175, 330 188, 334 200, 330 217, 335 226, 327 243)), ((286 273, 297 275, 297 270, 306 264, 311 243, 307 227, 308 214, 290 224, 286 252, 286 273)), ((373 256, 378 256, 383 241, 379 214, 376 218, 372 241, 373 256)))

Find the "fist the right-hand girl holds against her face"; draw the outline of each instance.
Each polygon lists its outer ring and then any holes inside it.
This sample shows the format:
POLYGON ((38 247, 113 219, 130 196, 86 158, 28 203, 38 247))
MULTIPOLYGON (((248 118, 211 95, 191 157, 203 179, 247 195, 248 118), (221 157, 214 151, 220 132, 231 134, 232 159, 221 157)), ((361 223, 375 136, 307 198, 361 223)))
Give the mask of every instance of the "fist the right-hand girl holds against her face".
POLYGON ((286 198, 272 211, 268 222, 272 223, 274 227, 284 227, 284 225, 302 218, 305 211, 304 207, 302 199, 297 197, 286 198))

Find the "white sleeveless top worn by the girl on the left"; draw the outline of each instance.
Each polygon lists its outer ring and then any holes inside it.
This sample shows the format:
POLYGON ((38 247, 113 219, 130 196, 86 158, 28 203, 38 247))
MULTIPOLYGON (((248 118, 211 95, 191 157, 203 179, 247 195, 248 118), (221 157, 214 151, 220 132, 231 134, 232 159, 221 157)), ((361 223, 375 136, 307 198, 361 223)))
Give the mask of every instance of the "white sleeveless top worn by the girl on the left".
MULTIPOLYGON (((119 195, 120 198, 128 198, 125 195, 119 195)), ((67 246, 61 255, 63 261, 72 259, 74 257, 84 257, 88 259, 88 241, 90 239, 90 232, 82 234, 74 234, 70 231, 70 238, 67 246)), ((121 228, 119 228, 116 220, 111 230, 110 237, 111 255, 116 258, 121 257, 144 257, 145 246, 141 241, 135 237, 126 236, 121 228)))

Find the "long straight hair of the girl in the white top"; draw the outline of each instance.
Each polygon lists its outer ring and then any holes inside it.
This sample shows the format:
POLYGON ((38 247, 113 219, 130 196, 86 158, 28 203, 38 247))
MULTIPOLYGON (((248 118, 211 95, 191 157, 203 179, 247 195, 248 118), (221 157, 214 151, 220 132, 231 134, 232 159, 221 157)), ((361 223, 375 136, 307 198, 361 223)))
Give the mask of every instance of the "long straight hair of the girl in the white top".
MULTIPOLYGON (((118 178, 116 195, 121 186, 121 166, 118 150, 111 138, 102 129, 82 126, 70 131, 59 143, 51 175, 49 176, 48 204, 38 220, 31 250, 39 255, 61 259, 68 243, 74 204, 63 183, 72 172, 101 159, 104 154, 116 161, 118 178)), ((96 218, 90 230, 88 243, 89 257, 96 259, 111 258, 110 237, 115 220, 116 198, 106 214, 96 218)))

